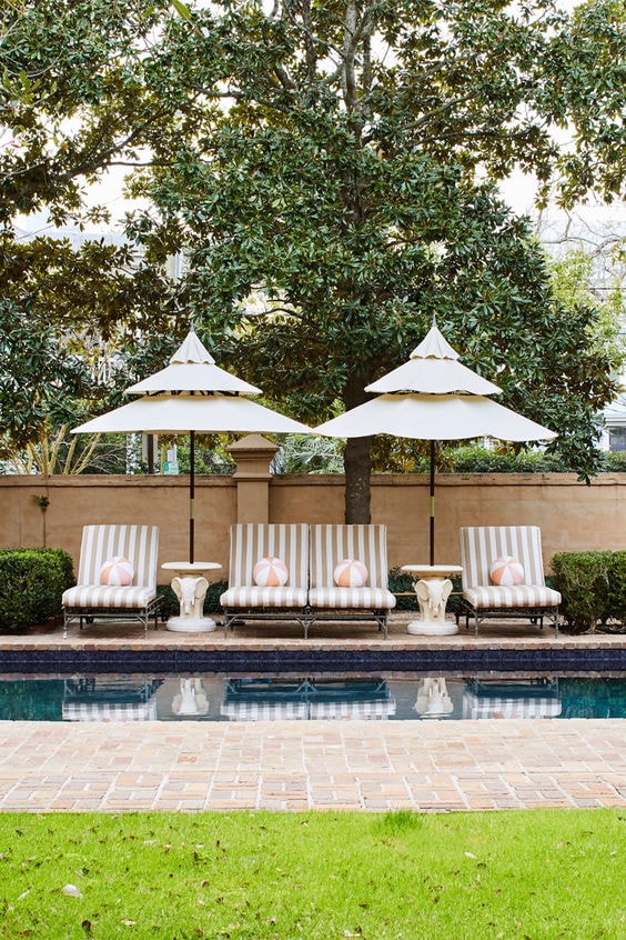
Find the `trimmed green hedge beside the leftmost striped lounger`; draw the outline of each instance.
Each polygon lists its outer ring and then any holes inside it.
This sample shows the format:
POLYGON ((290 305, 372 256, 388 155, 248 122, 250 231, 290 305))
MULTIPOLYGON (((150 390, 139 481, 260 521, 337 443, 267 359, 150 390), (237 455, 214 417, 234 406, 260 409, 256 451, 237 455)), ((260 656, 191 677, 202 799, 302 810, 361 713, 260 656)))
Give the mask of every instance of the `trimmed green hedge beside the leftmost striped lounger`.
POLYGON ((63 549, 0 549, 0 631, 59 617, 63 591, 72 584, 72 559, 63 549))

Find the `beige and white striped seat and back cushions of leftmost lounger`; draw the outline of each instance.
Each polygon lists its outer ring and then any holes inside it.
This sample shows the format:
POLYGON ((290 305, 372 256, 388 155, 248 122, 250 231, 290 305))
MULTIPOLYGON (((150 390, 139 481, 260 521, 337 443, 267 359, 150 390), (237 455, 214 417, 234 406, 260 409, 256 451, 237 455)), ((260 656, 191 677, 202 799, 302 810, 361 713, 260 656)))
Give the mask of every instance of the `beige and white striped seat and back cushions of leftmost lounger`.
POLYGON ((84 526, 78 584, 63 592, 63 607, 143 608, 156 594, 159 528, 156 526, 84 526), (121 554, 134 568, 128 588, 100 584, 108 558, 121 554))

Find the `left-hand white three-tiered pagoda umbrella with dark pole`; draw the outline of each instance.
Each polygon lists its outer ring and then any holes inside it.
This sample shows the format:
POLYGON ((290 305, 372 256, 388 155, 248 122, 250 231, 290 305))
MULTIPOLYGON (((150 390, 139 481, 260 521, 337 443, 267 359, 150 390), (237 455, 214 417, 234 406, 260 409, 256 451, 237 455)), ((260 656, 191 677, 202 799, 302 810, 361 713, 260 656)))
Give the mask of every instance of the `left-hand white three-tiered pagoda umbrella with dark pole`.
POLYGON ((127 389, 141 398, 73 428, 72 433, 190 434, 189 560, 193 562, 195 434, 312 433, 306 424, 244 397, 260 391, 220 369, 192 328, 170 366, 127 389))

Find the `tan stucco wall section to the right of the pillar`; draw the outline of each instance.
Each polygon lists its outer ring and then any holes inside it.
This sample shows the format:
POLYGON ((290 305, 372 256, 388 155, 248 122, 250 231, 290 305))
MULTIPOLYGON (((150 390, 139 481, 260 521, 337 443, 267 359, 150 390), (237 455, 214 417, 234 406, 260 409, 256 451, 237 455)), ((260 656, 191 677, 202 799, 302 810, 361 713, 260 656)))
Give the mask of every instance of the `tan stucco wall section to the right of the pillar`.
MULTIPOLYGON (((626 549, 626 473, 602 474, 590 486, 575 473, 437 474, 435 561, 460 561, 461 526, 539 526, 546 562, 557 551, 626 549)), ((290 521, 299 507, 307 522, 340 522, 342 477, 285 477, 272 482, 270 513, 290 521)), ((372 478, 372 521, 388 527, 390 567, 428 560, 428 479, 372 478)))

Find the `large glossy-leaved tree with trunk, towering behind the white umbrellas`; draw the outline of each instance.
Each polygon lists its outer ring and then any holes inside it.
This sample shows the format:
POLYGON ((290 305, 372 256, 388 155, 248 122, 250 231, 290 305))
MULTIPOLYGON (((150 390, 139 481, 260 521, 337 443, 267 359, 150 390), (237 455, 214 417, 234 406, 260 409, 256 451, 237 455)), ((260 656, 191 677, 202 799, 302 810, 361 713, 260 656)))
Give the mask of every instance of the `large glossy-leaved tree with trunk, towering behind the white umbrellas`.
MULTIPOLYGON (((144 162, 144 266, 184 251, 178 303, 275 401, 310 421, 353 407, 435 313, 593 470, 613 348, 589 342, 593 306, 559 304, 493 182, 522 168, 562 201, 624 194, 622 3, 16 0, 2 29, 7 223, 65 218, 101 168, 144 162)), ((346 447, 350 519, 370 443, 346 447)))

